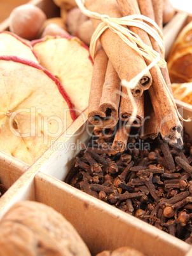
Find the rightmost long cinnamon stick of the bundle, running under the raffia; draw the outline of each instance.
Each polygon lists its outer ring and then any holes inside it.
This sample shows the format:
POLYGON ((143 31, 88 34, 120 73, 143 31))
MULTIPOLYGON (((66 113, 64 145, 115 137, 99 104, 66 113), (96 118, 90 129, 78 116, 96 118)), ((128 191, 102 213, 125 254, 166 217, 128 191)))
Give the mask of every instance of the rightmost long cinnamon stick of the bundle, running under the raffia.
MULTIPOLYGON (((117 1, 123 15, 140 14, 136 0, 117 1)), ((150 16, 152 17, 153 6, 151 0, 138 0, 138 2, 141 11, 145 11, 142 13, 142 15, 146 15, 147 12, 147 14, 150 14, 150 16), (151 5, 149 2, 151 3, 151 5), (149 6, 146 3, 149 4, 149 6), (152 14, 149 13, 149 10, 152 14)), ((146 45, 152 46, 151 41, 149 40, 149 36, 146 34, 145 31, 137 27, 130 27, 130 30, 138 34, 138 36, 142 39, 142 41, 144 41, 144 43, 146 43, 146 45)), ((149 64, 149 61, 147 59, 146 63, 149 64)), ((179 118, 177 117, 177 115, 175 115, 174 104, 170 100, 168 92, 163 85, 163 80, 158 73, 158 67, 154 66, 153 68, 151 68, 150 72, 151 76, 153 77, 153 82, 152 86, 149 87, 149 96, 151 98, 151 103, 153 104, 153 109, 156 115, 158 126, 160 127, 161 136, 163 139, 175 138, 176 132, 181 132, 182 126, 179 122, 179 118)))

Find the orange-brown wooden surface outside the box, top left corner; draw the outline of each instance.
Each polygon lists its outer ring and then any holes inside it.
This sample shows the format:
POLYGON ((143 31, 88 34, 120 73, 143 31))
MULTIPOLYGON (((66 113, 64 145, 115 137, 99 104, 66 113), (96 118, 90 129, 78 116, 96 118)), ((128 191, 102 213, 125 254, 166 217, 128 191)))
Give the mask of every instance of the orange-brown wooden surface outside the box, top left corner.
POLYGON ((29 0, 0 0, 0 22, 8 18, 11 10, 15 7, 27 3, 29 0))

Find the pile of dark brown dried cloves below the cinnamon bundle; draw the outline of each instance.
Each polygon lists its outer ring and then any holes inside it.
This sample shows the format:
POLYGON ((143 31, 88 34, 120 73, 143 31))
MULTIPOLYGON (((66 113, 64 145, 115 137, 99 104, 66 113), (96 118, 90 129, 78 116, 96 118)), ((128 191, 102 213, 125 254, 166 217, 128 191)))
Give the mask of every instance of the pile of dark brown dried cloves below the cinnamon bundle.
POLYGON ((85 146, 65 182, 113 204, 173 236, 192 244, 192 140, 171 147, 161 138, 139 141, 118 153, 110 139, 85 146), (141 142, 141 141, 140 141, 141 142), (148 143, 148 144, 147 144, 148 143), (140 144, 141 145, 141 144, 140 144))

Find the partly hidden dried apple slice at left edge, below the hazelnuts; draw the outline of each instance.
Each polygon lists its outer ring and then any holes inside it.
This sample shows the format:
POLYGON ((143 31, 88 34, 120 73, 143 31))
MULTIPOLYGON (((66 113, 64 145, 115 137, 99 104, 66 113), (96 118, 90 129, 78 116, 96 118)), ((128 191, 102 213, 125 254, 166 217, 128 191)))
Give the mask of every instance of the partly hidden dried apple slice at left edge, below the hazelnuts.
POLYGON ((39 63, 32 46, 9 31, 0 32, 0 55, 14 55, 39 63))

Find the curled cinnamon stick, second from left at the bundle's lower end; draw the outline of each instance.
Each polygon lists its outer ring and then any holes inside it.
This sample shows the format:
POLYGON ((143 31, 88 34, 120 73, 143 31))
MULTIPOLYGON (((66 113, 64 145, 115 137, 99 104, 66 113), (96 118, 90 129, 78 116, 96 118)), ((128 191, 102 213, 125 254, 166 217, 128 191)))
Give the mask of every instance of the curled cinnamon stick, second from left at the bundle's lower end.
POLYGON ((102 88, 102 96, 100 98, 100 110, 106 113, 106 116, 112 118, 114 125, 118 123, 118 110, 120 105, 121 91, 120 78, 113 68, 113 64, 108 60, 105 82, 102 88))

